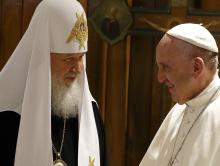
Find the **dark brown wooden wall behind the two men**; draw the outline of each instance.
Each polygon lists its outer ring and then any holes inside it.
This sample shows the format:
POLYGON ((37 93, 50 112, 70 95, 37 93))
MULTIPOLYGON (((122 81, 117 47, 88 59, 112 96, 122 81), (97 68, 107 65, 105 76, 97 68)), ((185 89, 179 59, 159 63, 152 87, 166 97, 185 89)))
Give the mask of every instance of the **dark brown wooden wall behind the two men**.
MULTIPOLYGON (((25 32, 40 1, 0 1, 0 69, 25 32)), ((94 1, 98 0, 81 0, 81 3, 88 10, 94 1)), ((219 6, 218 0, 189 2, 202 9, 219 6)), ((89 24, 88 80, 105 123, 110 166, 137 166, 172 105, 166 87, 157 82, 155 47, 163 33, 138 19, 154 17, 151 21, 164 26, 176 16, 183 22, 196 22, 205 15, 198 12, 188 17, 187 12, 180 13, 187 9, 181 6, 175 13, 170 10, 169 0, 128 0, 127 3, 135 21, 123 41, 109 45, 89 24)), ((220 20, 219 12, 213 15, 203 21, 220 20)), ((214 27, 213 31, 218 29, 214 27)), ((219 35, 216 33, 216 36, 219 35)))

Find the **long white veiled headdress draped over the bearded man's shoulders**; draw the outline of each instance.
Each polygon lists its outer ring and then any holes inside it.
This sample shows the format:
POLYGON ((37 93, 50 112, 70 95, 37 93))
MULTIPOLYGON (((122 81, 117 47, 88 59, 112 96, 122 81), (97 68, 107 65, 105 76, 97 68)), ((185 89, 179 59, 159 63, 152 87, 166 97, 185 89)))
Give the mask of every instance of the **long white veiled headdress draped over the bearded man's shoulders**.
MULTIPOLYGON (((86 20, 76 0, 43 0, 30 25, 0 72, 0 111, 21 115, 15 166, 52 166, 50 53, 87 51, 74 38, 66 43, 77 16, 86 20), (78 15, 77 15, 78 14, 78 15), (7 95, 6 95, 7 94, 7 95)), ((84 56, 85 57, 85 56, 84 56)), ((85 59, 84 59, 85 62, 85 59)), ((78 165, 100 165, 99 141, 85 70, 79 111, 78 165)))

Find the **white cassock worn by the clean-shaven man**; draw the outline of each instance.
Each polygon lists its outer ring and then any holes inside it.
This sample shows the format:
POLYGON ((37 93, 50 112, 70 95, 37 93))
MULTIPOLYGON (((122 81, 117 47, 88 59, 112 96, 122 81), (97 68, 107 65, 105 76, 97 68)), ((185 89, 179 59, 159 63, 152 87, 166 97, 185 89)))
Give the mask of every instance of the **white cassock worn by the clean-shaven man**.
POLYGON ((214 80, 197 97, 186 104, 176 104, 162 123, 139 166, 168 166, 172 156, 176 156, 172 164, 175 166, 219 166, 219 87, 220 79, 216 73, 214 80))

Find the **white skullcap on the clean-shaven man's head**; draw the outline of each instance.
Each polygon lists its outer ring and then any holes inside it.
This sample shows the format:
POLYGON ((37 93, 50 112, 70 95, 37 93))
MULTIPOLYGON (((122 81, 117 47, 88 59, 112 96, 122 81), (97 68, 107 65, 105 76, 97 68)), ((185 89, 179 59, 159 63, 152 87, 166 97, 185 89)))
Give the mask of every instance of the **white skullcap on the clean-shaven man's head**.
POLYGON ((214 37, 205 27, 199 24, 180 24, 168 30, 166 33, 197 47, 218 53, 218 47, 214 37))

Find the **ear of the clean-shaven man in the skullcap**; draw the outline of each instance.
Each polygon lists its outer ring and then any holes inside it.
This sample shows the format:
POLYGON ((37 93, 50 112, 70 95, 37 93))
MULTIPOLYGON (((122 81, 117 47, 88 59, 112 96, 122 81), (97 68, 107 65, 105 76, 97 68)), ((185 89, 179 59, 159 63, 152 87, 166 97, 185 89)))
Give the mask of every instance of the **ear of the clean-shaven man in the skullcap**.
POLYGON ((196 57, 193 61, 193 77, 198 78, 205 67, 205 63, 201 57, 196 57))

